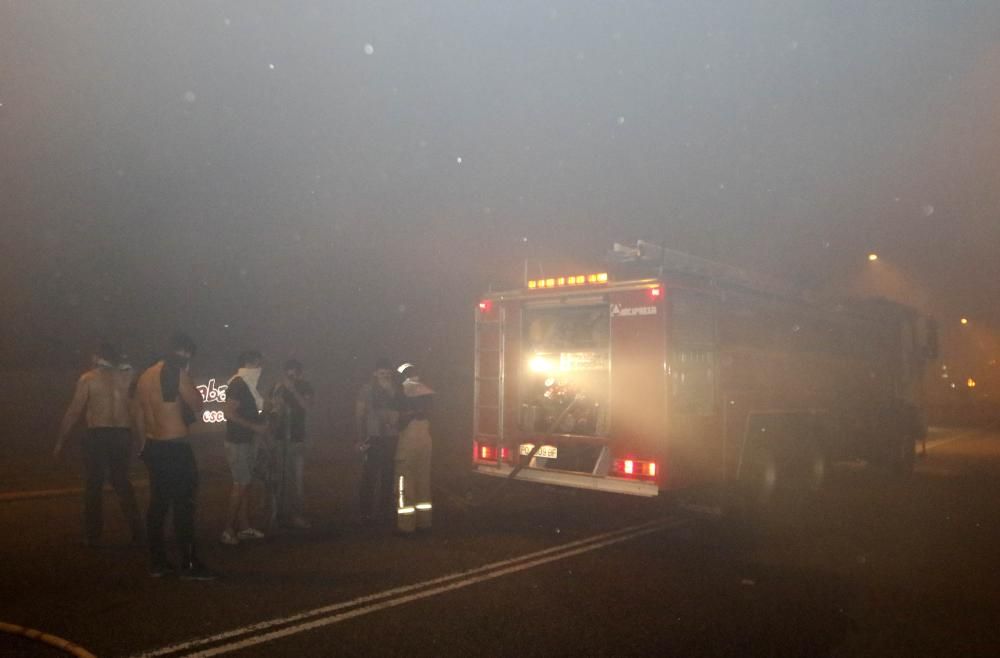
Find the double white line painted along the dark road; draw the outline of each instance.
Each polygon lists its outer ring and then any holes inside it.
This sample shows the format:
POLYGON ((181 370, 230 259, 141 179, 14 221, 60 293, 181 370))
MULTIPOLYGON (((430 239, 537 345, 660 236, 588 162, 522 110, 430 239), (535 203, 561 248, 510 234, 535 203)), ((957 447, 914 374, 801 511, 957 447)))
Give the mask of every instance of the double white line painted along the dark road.
POLYGON ((630 526, 628 528, 622 528, 600 535, 595 535, 593 537, 580 539, 561 546, 554 546, 552 548, 536 551, 534 553, 528 553, 526 555, 510 558, 508 560, 493 562, 482 567, 433 578, 431 580, 415 583, 413 585, 396 587, 384 592, 361 596, 350 601, 316 608, 314 610, 309 610, 288 617, 263 621, 224 633, 219 633, 217 635, 162 647, 147 653, 139 654, 138 658, 152 658, 154 656, 177 654, 180 652, 186 652, 189 649, 197 649, 199 647, 214 644, 222 640, 249 635, 249 637, 243 637, 243 639, 238 639, 228 644, 214 646, 194 653, 184 653, 183 655, 207 657, 228 653, 230 651, 237 651, 256 644, 262 644, 278 638, 302 633, 313 628, 336 624, 341 621, 353 619, 354 617, 377 612, 386 608, 396 607, 411 601, 468 587, 476 583, 492 580, 494 578, 517 573, 526 569, 531 569, 549 562, 555 562, 557 560, 573 557, 581 553, 595 551, 606 546, 628 541, 652 532, 665 530, 669 527, 676 527, 682 525, 683 523, 683 520, 675 518, 661 521, 651 521, 648 523, 630 526), (346 610, 346 612, 338 612, 343 610, 346 610), (299 621, 302 623, 294 624, 294 622, 299 621), (258 631, 275 628, 277 626, 285 627, 262 635, 255 634, 258 631))

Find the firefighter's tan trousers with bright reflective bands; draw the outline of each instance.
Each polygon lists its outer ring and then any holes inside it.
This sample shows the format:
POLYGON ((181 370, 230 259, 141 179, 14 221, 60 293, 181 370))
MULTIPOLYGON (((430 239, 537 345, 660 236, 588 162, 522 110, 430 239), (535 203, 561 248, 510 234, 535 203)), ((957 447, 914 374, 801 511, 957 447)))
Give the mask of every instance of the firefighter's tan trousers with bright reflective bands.
POLYGON ((396 528, 413 532, 431 527, 430 422, 412 420, 396 445, 396 528))

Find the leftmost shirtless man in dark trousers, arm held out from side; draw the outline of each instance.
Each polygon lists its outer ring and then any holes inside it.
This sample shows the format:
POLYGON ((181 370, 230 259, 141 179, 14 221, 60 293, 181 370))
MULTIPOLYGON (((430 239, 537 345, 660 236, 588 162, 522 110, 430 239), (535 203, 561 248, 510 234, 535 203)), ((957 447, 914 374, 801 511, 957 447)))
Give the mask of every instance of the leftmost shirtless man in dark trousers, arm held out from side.
POLYGON ((81 441, 86 487, 83 495, 83 544, 97 546, 104 528, 102 505, 104 480, 110 476, 118 494, 122 513, 132 530, 132 543, 142 543, 142 519, 135 503, 135 492, 128 479, 132 448, 132 419, 129 416, 128 389, 132 369, 120 363, 118 350, 102 343, 93 356, 93 368, 76 383, 73 400, 63 416, 53 454, 62 453, 70 430, 86 415, 87 435, 81 441))

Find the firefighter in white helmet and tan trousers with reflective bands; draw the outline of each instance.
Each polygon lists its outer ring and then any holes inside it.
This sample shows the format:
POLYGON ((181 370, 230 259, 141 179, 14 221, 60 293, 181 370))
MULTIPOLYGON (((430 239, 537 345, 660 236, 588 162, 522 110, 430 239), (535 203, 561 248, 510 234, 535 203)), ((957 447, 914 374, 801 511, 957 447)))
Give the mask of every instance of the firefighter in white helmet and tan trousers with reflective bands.
POLYGON ((434 391, 420 381, 412 363, 397 369, 403 399, 396 445, 396 531, 411 534, 431 527, 431 433, 428 414, 434 391))

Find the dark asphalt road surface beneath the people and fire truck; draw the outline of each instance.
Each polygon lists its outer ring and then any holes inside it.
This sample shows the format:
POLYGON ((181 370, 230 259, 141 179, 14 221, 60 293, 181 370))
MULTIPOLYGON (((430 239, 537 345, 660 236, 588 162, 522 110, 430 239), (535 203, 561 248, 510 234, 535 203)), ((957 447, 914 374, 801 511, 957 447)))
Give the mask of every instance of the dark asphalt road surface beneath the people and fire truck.
MULTIPOLYGON (((30 495, 72 489, 68 470, 44 482, 23 464, 5 473, 0 621, 99 656, 993 656, 1000 646, 996 431, 935 432, 909 479, 840 465, 794 516, 752 525, 518 484, 490 500, 494 481, 441 460, 435 528, 417 537, 358 524, 352 456, 320 447, 308 473, 314 528, 237 547, 217 541, 219 454, 199 456, 202 553, 223 575, 211 583, 150 578, 110 493, 109 546, 81 547, 79 496, 30 495)), ((0 634, 0 654, 58 655, 48 651, 0 634)))

